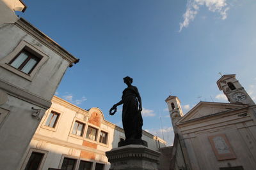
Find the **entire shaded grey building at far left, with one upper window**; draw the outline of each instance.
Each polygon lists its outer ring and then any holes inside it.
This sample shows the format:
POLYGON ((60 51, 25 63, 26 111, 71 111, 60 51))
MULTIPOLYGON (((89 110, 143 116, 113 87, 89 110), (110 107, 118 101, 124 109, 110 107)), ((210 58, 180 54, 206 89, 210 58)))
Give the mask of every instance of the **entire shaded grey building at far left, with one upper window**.
POLYGON ((78 62, 15 10, 19 0, 0 0, 0 169, 19 167, 67 67, 78 62))

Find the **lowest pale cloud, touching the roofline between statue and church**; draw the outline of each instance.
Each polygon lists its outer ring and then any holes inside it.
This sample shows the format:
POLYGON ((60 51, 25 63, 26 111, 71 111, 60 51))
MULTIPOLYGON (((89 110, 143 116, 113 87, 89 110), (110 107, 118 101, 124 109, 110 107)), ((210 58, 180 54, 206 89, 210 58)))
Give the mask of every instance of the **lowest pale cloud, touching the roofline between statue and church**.
POLYGON ((172 127, 164 127, 163 129, 146 129, 145 131, 164 139, 167 146, 170 146, 173 143, 174 132, 172 127))

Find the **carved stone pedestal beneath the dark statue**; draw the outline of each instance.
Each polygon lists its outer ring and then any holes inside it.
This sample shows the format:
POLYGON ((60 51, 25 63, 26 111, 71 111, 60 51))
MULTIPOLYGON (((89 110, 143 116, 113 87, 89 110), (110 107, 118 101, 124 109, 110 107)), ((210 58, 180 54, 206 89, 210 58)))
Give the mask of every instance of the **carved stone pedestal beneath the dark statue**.
POLYGON ((109 170, 156 170, 161 153, 143 145, 126 145, 106 152, 109 170))

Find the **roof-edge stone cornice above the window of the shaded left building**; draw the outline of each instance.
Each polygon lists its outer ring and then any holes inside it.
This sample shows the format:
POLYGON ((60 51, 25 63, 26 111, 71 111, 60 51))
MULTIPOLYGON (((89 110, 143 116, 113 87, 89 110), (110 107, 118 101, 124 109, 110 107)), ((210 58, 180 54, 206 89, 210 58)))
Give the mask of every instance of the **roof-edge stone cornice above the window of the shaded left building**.
POLYGON ((58 45, 58 43, 56 43, 51 38, 46 36, 43 32, 36 29, 36 27, 31 25, 24 18, 20 18, 19 20, 17 20, 17 22, 15 22, 15 25, 20 27, 20 29, 27 32, 29 35, 36 38, 38 41, 40 41, 40 43, 44 44, 45 46, 50 48, 52 51, 58 53, 61 57, 63 57, 63 59, 69 62, 70 67, 72 66, 73 63, 76 64, 77 62, 79 62, 79 59, 77 59, 76 57, 71 55, 69 52, 67 52, 67 50, 62 48, 60 45, 58 45))

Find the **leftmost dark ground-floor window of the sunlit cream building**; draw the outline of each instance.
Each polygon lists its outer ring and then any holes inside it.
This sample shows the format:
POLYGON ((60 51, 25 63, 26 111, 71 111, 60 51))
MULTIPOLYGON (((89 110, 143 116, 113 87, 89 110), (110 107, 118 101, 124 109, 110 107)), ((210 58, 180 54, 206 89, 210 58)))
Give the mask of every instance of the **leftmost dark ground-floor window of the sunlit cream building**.
POLYGON ((25 167, 25 170, 36 170, 40 167, 44 153, 32 152, 29 157, 28 163, 25 167))

